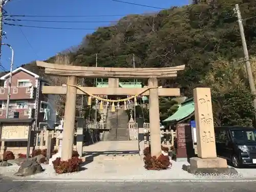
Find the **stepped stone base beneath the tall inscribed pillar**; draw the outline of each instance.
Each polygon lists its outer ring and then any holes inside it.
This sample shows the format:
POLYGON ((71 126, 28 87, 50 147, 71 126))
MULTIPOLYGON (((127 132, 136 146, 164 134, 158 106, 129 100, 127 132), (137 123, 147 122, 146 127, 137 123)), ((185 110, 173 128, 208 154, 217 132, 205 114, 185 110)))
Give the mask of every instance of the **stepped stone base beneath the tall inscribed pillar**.
POLYGON ((238 172, 234 168, 227 166, 227 160, 222 158, 190 158, 190 165, 183 165, 182 169, 190 174, 197 175, 198 177, 211 177, 216 179, 224 178, 226 176, 238 175, 238 172))

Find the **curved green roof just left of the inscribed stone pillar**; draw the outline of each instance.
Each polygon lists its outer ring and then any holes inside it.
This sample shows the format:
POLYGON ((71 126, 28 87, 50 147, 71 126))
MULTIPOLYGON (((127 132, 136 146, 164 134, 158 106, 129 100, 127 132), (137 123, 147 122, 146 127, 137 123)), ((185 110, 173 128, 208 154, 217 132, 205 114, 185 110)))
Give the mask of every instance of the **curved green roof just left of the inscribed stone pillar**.
POLYGON ((194 116, 194 112, 195 112, 194 106, 195 106, 194 98, 185 100, 179 105, 178 110, 172 116, 163 120, 163 122, 172 124, 172 123, 180 123, 187 119, 190 120, 190 118, 194 116))

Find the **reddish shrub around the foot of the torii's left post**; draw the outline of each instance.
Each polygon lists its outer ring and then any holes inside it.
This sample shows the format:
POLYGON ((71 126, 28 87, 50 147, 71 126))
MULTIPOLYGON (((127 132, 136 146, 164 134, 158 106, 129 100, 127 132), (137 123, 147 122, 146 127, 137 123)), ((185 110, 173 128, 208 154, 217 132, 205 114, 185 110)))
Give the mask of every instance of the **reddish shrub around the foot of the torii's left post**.
POLYGON ((67 161, 61 161, 60 158, 56 158, 53 161, 53 168, 57 174, 78 172, 80 168, 81 159, 78 157, 72 157, 67 161))

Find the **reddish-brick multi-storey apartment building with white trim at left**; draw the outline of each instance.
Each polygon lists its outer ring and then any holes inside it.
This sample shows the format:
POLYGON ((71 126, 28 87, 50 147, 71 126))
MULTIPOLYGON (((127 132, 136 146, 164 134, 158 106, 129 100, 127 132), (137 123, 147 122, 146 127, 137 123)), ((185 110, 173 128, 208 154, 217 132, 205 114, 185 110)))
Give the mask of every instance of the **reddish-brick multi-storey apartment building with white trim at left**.
MULTIPOLYGON (((6 118, 6 103, 10 73, 2 76, 0 87, 0 119, 6 118)), ((42 86, 49 86, 46 79, 22 67, 12 72, 9 118, 34 118, 36 130, 53 129, 56 122, 55 96, 42 94, 42 86)))

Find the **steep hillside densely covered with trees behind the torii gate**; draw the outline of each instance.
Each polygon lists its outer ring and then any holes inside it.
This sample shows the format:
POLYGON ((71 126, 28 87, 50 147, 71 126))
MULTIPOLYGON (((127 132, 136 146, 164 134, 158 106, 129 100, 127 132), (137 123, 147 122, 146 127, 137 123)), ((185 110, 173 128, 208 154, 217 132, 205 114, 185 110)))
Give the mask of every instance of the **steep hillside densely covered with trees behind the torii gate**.
MULTIPOLYGON (((72 51, 80 66, 170 67, 186 65, 164 87, 181 88, 191 97, 195 87, 210 87, 215 122, 252 125, 253 108, 234 5, 244 20, 249 54, 256 51, 255 0, 201 0, 194 5, 172 7, 155 14, 127 15, 115 25, 102 27, 82 39, 72 51)), ((53 58, 50 59, 52 61, 53 58)), ((256 62, 252 58, 255 74, 256 62)), ((34 63, 25 68, 35 69, 34 63)), ((43 71, 43 70, 40 70, 43 71)))

